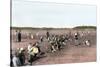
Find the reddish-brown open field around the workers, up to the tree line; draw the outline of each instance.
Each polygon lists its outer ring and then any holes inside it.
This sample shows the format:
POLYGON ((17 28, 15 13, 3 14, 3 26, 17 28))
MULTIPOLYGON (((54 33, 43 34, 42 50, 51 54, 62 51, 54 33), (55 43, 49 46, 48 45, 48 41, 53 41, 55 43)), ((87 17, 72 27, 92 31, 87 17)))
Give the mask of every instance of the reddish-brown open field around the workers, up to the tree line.
MULTIPOLYGON (((11 50, 12 53, 17 48, 24 48, 27 50, 29 43, 39 41, 43 36, 43 42, 39 43, 40 49, 45 53, 41 57, 32 62, 32 65, 47 65, 47 64, 67 64, 67 63, 81 63, 81 62, 95 62, 96 61, 96 30, 95 29, 21 29, 21 42, 16 42, 16 30, 11 29, 11 50), (68 35, 70 38, 66 45, 59 51, 51 52, 50 43, 45 38, 46 32, 51 35, 68 35), (80 45, 75 45, 74 33, 79 33, 78 42, 80 45), (32 38, 31 38, 32 35, 32 38), (90 46, 84 44, 85 40, 90 40, 90 46)), ((27 59, 27 52, 26 52, 27 59)), ((27 60, 25 64, 28 65, 27 60)))

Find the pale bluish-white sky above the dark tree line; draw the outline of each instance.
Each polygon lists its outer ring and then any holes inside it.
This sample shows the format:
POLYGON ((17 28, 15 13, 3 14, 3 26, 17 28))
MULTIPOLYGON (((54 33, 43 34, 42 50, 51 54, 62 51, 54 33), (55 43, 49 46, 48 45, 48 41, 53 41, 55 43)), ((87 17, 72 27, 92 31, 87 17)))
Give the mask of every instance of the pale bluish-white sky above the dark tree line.
POLYGON ((12 0, 12 26, 96 26, 96 6, 12 0))

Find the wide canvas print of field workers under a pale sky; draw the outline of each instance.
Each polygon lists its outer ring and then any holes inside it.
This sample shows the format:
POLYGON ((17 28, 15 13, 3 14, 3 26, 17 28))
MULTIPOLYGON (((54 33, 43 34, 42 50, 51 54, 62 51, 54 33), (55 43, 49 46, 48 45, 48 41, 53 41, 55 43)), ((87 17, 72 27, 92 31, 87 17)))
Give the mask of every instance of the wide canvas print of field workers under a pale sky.
POLYGON ((11 1, 10 66, 96 62, 96 6, 11 1))

